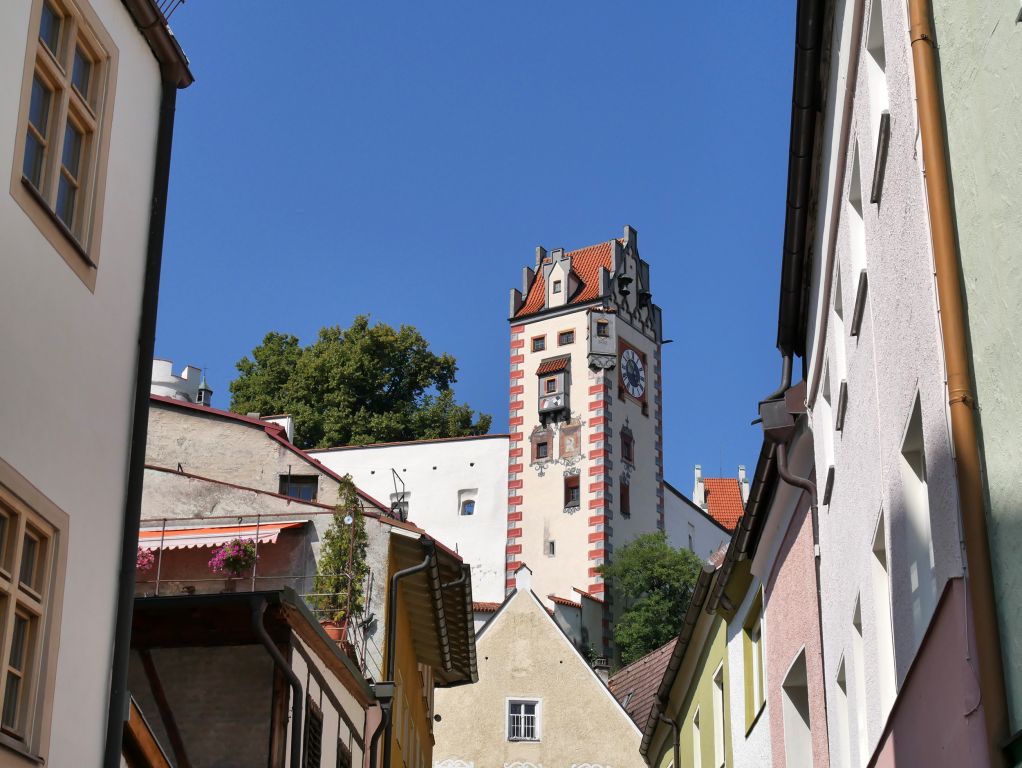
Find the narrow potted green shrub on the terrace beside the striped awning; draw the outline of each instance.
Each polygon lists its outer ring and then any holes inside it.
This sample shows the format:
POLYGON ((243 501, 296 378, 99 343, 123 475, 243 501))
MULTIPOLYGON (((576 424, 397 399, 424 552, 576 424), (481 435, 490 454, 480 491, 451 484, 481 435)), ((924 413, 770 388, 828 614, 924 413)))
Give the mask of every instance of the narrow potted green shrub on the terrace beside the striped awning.
POLYGON ((310 602, 321 620, 341 622, 360 616, 365 604, 365 584, 369 575, 366 547, 369 536, 362 503, 351 475, 341 479, 337 504, 330 527, 323 534, 314 596, 310 602), (346 522, 351 519, 351 523, 346 522))

